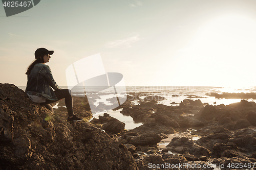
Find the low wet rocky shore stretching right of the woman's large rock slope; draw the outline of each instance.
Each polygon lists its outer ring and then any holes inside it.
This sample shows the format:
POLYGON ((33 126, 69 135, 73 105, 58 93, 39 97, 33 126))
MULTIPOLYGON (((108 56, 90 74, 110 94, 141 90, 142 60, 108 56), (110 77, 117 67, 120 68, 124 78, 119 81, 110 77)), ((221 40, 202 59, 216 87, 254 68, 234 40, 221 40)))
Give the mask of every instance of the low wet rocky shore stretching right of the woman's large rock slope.
MULTIPOLYGON (((187 165, 180 169, 256 169, 254 102, 241 100, 228 106, 212 106, 185 99, 179 106, 165 106, 157 104, 164 99, 153 96, 152 100, 147 98, 140 100, 139 105, 131 105, 138 95, 130 93, 118 109, 122 108, 120 113, 143 125, 130 131, 120 129, 118 134, 106 132, 125 144, 139 169, 178 169, 165 163, 187 165), (201 167, 189 166, 195 164, 201 167)), ((90 123, 104 126, 108 121, 100 119, 107 117, 111 116, 105 113, 90 123)))

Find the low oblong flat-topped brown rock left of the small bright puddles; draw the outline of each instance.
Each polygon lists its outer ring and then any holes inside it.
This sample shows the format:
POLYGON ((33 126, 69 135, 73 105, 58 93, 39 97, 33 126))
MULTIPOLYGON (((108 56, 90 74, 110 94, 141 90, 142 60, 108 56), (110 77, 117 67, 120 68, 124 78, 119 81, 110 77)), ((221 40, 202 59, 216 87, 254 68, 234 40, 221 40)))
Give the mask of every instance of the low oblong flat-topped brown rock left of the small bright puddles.
POLYGON ((157 144, 162 140, 161 136, 155 133, 145 133, 142 135, 134 136, 130 140, 130 144, 133 145, 149 145, 157 144))

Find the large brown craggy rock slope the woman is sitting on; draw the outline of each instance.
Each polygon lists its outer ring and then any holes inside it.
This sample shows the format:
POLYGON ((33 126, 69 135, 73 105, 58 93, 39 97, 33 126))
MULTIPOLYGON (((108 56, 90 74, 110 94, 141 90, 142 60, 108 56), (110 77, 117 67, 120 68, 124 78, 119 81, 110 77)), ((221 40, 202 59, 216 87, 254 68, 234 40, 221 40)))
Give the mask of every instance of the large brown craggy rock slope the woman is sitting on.
POLYGON ((32 103, 12 84, 0 84, 2 169, 138 169, 127 148, 83 123, 67 122, 32 103))

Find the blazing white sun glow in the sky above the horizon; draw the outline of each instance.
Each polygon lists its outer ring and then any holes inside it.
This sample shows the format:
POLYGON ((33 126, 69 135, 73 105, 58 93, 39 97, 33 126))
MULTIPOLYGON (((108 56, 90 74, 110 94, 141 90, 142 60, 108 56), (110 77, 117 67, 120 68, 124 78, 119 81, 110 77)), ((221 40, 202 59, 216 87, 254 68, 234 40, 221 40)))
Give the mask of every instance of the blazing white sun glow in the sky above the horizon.
POLYGON ((256 22, 242 15, 225 15, 209 21, 180 50, 178 62, 186 71, 179 76, 202 86, 255 85, 255 30, 256 22))

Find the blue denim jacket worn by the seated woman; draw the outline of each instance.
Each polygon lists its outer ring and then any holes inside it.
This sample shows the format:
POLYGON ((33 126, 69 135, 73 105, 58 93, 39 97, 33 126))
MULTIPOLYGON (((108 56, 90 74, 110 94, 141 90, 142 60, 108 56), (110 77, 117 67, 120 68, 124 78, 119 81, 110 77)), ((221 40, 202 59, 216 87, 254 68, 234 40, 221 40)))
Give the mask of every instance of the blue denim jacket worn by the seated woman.
POLYGON ((52 71, 48 65, 37 63, 28 75, 26 93, 41 96, 47 100, 57 100, 53 91, 61 89, 52 76, 52 71))

